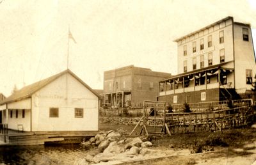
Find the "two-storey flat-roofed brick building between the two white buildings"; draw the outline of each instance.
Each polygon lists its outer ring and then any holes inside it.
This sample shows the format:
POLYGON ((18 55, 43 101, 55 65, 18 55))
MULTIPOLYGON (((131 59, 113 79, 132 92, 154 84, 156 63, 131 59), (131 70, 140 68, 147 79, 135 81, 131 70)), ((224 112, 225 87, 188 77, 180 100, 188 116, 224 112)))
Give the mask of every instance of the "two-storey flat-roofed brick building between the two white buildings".
POLYGON ((104 72, 104 101, 108 107, 139 107, 143 100, 156 100, 159 81, 171 74, 133 65, 104 72))

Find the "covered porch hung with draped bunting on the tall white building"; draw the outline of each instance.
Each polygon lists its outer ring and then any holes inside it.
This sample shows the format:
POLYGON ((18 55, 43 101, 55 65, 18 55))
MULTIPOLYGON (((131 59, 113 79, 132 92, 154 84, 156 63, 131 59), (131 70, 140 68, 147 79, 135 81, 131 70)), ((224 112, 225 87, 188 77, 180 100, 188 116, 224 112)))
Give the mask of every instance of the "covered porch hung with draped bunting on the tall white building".
POLYGON ((159 82, 159 97, 220 88, 234 88, 234 68, 212 66, 164 79, 159 82))

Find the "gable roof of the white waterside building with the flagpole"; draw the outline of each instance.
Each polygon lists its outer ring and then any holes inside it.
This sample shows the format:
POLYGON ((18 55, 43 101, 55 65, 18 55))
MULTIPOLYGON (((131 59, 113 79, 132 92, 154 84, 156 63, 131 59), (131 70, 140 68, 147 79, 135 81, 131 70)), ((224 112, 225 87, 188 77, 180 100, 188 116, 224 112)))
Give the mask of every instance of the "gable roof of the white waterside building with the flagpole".
POLYGON ((100 98, 100 95, 96 91, 94 91, 92 88, 90 88, 90 86, 88 86, 86 83, 84 83, 79 77, 77 77, 76 74, 74 74, 69 69, 67 69, 67 70, 64 70, 63 72, 60 72, 59 74, 52 75, 51 77, 48 77, 47 79, 43 79, 42 81, 38 81, 38 82, 30 84, 28 86, 24 86, 20 90, 15 91, 15 93, 10 95, 10 97, 7 97, 3 101, 1 101, 0 105, 10 103, 10 102, 15 102, 18 100, 22 100, 24 98, 29 98, 36 91, 44 88, 45 86, 47 86, 47 84, 50 84, 52 81, 58 79, 58 77, 60 77, 61 75, 64 75, 67 73, 72 75, 75 79, 77 79, 77 81, 79 81, 81 84, 83 84, 83 86, 88 88, 88 90, 92 91, 92 93, 94 95, 96 95, 98 98, 100 98))

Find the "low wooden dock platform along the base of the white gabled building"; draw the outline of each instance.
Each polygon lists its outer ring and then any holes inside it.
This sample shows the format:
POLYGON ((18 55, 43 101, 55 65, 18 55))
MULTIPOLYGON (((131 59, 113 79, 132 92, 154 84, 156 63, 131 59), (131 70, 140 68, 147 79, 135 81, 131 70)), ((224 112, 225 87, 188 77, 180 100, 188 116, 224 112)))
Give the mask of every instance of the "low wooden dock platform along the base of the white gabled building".
POLYGON ((81 143, 97 132, 20 132, 5 134, 7 145, 45 145, 45 143, 81 143))

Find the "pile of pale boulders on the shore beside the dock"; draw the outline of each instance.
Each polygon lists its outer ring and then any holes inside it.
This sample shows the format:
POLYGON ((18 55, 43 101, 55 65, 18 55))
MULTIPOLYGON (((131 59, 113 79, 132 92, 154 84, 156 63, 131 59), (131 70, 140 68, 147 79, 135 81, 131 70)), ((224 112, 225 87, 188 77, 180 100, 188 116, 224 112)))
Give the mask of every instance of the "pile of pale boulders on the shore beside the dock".
POLYGON ((148 148, 152 146, 152 143, 147 139, 145 136, 125 138, 119 132, 113 130, 99 132, 95 137, 81 143, 81 145, 93 147, 95 150, 89 152, 86 157, 77 160, 74 164, 94 164, 138 156, 143 157, 154 152, 154 150, 148 148))

